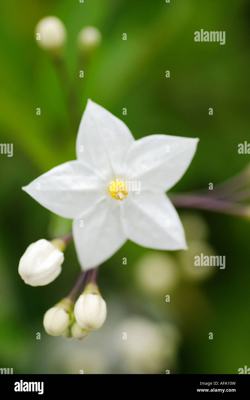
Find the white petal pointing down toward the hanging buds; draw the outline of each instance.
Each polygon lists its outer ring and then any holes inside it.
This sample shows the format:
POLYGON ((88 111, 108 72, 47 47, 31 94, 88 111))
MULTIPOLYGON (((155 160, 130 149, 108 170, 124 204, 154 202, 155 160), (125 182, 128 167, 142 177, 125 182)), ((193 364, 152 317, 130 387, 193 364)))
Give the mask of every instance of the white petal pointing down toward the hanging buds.
POLYGON ((113 198, 102 200, 73 221, 75 248, 83 270, 103 263, 125 243, 117 203, 113 198))

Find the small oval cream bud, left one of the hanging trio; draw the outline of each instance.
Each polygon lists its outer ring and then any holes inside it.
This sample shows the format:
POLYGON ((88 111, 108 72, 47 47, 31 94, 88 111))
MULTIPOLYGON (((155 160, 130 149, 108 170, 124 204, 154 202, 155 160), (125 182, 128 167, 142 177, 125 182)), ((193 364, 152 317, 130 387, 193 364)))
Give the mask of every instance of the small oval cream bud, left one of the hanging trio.
POLYGON ((54 306, 44 315, 44 329, 49 335, 61 335, 69 325, 69 312, 63 308, 54 306))

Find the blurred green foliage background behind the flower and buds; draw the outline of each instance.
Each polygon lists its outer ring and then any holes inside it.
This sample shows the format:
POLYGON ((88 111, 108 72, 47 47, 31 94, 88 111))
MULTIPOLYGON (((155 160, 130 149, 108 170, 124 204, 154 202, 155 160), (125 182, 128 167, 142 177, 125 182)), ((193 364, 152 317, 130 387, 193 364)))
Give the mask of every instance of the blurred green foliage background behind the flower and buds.
POLYGON ((55 66, 34 40, 37 22, 55 15, 65 24, 64 58, 77 87, 79 121, 91 98, 121 118, 136 139, 155 133, 200 138, 190 168, 173 189, 178 192, 215 185, 249 162, 248 154, 238 154, 238 143, 250 142, 249 1, 14 0, 0 8, 0 142, 13 143, 14 150, 13 157, 0 154, 0 367, 14 368, 15 374, 77 374, 81 369, 93 374, 165 374, 167 369, 237 374, 238 368, 250 367, 246 220, 180 213, 194 254, 210 246, 213 254, 226 256, 226 268, 214 267, 211 276, 209 271, 195 276, 187 254, 127 242, 100 268, 108 316, 84 342, 50 337, 42 325, 46 310, 69 292, 79 272, 73 243, 65 251, 62 274, 50 285, 28 286, 18 274, 30 243, 67 233, 70 223, 55 218, 21 187, 75 159, 77 133, 55 66), (102 42, 81 80, 76 37, 89 25, 99 28, 102 42), (226 31, 225 45, 194 42, 201 28, 226 31), (160 276, 166 273, 162 291, 152 284, 155 268, 160 276), (126 330, 130 341, 122 340, 126 330))

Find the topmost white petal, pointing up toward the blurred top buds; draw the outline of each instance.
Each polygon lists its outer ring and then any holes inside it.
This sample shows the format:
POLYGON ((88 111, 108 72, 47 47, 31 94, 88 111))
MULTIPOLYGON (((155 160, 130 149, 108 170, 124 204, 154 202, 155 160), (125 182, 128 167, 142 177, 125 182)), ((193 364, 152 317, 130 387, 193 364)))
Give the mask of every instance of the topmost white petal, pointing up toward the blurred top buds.
POLYGON ((78 159, 107 178, 121 172, 127 149, 133 141, 124 122, 88 100, 77 135, 78 159))

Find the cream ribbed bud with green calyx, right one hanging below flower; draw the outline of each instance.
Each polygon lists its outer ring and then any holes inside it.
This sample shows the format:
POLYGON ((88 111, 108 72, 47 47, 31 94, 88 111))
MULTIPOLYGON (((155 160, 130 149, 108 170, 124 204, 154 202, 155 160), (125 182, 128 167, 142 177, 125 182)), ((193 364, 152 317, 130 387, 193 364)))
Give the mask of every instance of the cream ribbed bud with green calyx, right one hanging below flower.
POLYGON ((98 286, 89 283, 75 302, 75 319, 86 330, 101 328, 107 316, 106 302, 101 297, 98 286))

